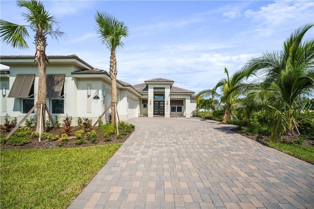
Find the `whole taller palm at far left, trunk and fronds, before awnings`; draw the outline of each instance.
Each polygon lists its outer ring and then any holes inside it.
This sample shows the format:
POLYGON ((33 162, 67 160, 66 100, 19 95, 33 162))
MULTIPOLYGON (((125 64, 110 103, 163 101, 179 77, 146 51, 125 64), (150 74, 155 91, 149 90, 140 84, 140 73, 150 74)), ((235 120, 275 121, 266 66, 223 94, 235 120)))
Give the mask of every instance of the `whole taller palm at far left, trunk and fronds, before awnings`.
POLYGON ((29 37, 27 27, 35 32, 35 62, 38 62, 38 102, 37 104, 43 104, 42 121, 40 119, 40 105, 37 105, 37 127, 36 131, 39 133, 41 126, 41 132, 45 132, 45 106, 46 106, 46 62, 49 63, 49 59, 46 55, 47 35, 51 35, 52 38, 58 38, 64 35, 63 32, 58 29, 53 30, 53 25, 56 24, 54 16, 51 16, 45 9, 41 1, 36 0, 17 0, 18 7, 25 7, 26 13, 22 13, 26 23, 29 25, 19 25, 0 20, 0 37, 6 44, 13 46, 14 48, 28 48, 26 38, 29 37))

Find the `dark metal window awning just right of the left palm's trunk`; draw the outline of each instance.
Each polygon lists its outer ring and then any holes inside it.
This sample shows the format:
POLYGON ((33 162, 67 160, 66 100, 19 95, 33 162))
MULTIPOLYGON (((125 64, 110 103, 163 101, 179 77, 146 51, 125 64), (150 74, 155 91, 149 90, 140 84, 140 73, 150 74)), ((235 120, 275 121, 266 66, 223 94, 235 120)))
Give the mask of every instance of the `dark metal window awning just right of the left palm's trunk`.
POLYGON ((65 75, 47 75, 47 98, 60 98, 65 75))

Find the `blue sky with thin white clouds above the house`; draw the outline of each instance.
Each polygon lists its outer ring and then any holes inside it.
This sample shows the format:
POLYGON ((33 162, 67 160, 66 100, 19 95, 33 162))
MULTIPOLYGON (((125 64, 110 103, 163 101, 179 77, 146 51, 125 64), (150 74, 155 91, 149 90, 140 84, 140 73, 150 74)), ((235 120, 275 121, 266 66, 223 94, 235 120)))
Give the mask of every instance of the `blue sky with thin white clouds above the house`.
MULTIPOLYGON (((94 68, 109 71, 110 51, 96 34, 97 11, 113 15, 129 27, 117 56, 117 79, 132 85, 152 78, 174 80, 174 86, 199 93, 212 89, 245 63, 267 51, 282 50, 298 27, 314 23, 313 0, 44 0, 55 17, 58 40, 48 37, 47 55, 71 55, 94 68)), ((26 24, 24 8, 0 1, 0 19, 26 24)), ((28 49, 0 42, 1 55, 33 55, 28 49)), ((314 37, 314 27, 306 38, 314 37)), ((7 66, 0 66, 8 69, 7 66)))

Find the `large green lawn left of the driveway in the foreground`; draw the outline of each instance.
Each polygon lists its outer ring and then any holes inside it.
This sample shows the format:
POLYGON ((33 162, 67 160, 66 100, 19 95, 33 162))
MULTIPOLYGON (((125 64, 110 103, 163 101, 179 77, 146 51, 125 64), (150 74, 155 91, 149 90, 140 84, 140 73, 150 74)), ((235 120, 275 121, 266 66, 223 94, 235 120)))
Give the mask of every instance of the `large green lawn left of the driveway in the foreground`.
POLYGON ((67 208, 121 145, 2 149, 0 208, 67 208))

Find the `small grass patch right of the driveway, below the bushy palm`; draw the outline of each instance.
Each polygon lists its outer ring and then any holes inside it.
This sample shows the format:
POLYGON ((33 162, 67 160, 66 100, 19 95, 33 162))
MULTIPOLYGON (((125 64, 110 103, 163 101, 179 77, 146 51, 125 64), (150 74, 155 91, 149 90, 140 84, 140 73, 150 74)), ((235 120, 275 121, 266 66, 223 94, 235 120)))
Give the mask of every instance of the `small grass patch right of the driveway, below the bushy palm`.
POLYGON ((268 141, 266 144, 288 155, 314 164, 314 147, 287 143, 275 143, 270 141, 268 141))

